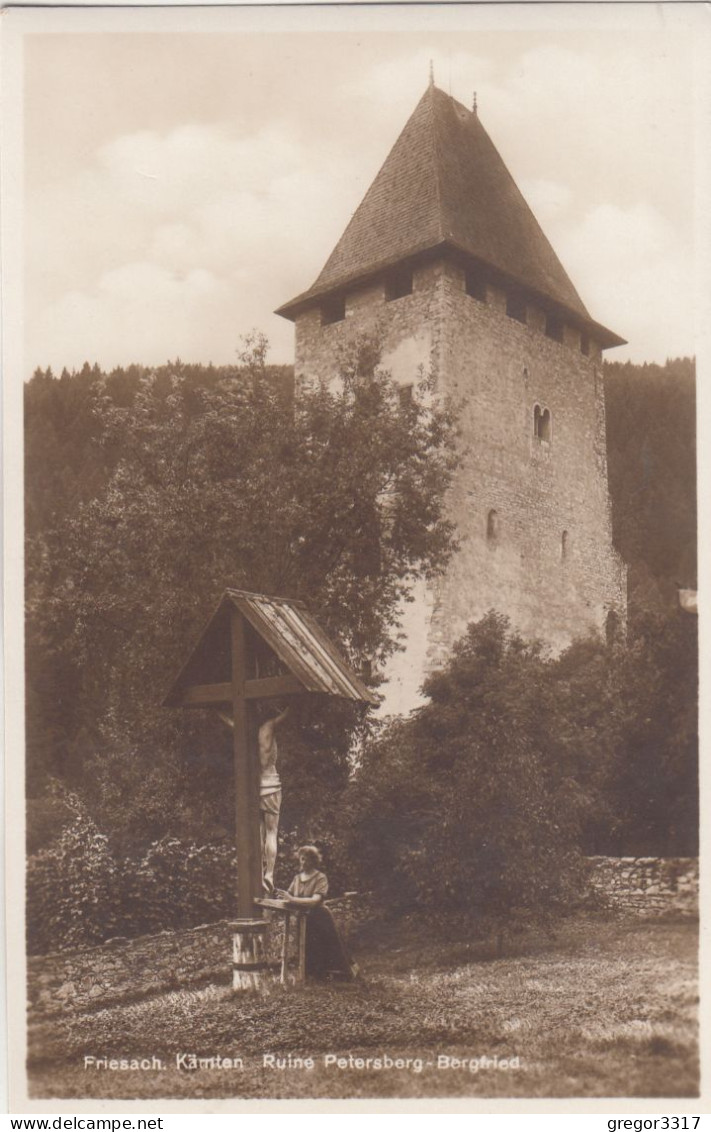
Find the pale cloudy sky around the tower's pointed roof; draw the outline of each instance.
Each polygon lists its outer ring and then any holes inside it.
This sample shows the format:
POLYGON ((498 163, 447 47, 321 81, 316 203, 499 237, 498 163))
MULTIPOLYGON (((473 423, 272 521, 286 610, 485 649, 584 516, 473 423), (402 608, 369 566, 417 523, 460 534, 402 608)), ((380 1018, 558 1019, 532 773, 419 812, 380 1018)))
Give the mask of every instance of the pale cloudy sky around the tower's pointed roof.
POLYGON ((700 109, 673 7, 346 10, 320 28, 205 11, 187 31, 168 9, 152 31, 85 11, 80 33, 26 35, 25 377, 230 363, 251 328, 292 361, 273 311, 316 278, 430 59, 439 87, 477 92, 591 316, 628 340, 607 357, 694 353, 700 109))

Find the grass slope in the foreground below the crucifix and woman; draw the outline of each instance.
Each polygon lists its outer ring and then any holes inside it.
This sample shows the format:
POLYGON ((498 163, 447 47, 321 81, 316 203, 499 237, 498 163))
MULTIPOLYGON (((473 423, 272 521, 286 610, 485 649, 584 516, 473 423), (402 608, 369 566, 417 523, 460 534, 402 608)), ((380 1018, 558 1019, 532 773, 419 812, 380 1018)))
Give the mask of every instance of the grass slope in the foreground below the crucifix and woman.
POLYGON ((481 958, 463 938, 380 936, 356 949, 362 984, 241 996, 211 986, 35 1027, 29 1095, 693 1097, 696 949, 694 924, 592 916, 502 959, 481 958), (242 1066, 190 1070, 180 1054, 242 1066), (85 1055, 157 1057, 164 1067, 85 1069, 85 1055), (292 1067, 265 1066, 264 1055, 291 1057, 292 1067), (339 1067, 326 1055, 411 1062, 339 1067), (442 1056, 466 1064, 438 1067, 442 1056), (293 1066, 297 1057, 314 1067, 293 1066))

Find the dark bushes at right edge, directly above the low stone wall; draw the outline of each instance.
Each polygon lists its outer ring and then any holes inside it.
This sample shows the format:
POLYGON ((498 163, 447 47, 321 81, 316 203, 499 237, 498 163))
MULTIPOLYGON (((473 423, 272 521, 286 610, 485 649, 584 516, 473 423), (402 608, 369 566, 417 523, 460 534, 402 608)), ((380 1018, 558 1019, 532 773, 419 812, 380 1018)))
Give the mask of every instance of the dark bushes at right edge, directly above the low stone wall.
POLYGON ((577 641, 552 663, 558 739, 588 799, 590 854, 699 851, 696 619, 637 611, 611 646, 577 641))

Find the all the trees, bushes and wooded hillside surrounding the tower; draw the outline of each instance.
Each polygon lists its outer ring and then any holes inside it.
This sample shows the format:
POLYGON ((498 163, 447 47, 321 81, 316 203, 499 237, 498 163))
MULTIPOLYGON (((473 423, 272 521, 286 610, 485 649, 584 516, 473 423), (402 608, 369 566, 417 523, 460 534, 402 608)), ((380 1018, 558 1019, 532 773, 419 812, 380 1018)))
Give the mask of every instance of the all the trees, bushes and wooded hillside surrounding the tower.
MULTIPOLYGON (((229 914, 229 738, 207 713, 160 706, 226 585, 306 600, 377 687, 411 580, 453 552, 453 406, 427 381, 403 396, 368 342, 341 378, 294 402, 292 370, 256 336, 234 367, 85 365, 27 383, 35 950, 55 929, 83 942, 229 914)), ((442 907, 469 885, 509 915, 563 900, 581 851, 696 851, 696 623, 677 602, 677 584, 695 586, 694 366, 606 365, 605 387, 625 640, 551 659, 490 615, 412 720, 299 705, 283 844, 318 840, 336 887, 375 876, 391 904, 442 907), (551 886, 554 859, 569 871, 551 886)))

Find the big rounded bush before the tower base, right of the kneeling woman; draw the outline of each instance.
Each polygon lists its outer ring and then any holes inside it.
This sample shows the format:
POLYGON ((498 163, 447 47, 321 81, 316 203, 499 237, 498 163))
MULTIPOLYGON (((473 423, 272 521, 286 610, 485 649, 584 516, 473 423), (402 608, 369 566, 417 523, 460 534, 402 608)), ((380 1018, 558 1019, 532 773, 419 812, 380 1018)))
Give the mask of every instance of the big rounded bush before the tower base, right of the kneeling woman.
POLYGON ((429 702, 367 749, 351 787, 361 883, 394 906, 498 923, 564 906, 588 798, 540 645, 491 612, 425 691, 429 702))

